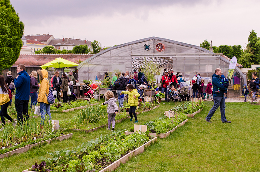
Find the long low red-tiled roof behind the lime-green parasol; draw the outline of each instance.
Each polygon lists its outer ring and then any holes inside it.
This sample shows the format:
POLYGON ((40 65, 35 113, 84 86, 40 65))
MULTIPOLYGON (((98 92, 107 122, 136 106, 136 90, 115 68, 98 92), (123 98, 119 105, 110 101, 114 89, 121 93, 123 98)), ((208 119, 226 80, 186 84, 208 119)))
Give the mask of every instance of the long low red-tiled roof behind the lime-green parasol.
POLYGON ((13 67, 19 64, 24 64, 24 66, 41 66, 59 57, 79 64, 76 60, 84 61, 93 55, 94 54, 20 54, 19 58, 13 64, 13 67))

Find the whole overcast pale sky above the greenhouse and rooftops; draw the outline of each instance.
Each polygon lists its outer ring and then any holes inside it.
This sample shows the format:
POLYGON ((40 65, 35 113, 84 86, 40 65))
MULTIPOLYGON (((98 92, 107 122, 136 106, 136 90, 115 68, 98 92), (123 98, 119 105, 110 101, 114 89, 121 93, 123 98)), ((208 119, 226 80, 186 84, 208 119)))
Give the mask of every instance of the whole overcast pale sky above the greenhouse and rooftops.
MULTIPOLYGON (((259 0, 10 0, 24 35, 97 40, 113 46, 152 36, 246 47, 260 37, 259 0)), ((244 48, 243 48, 244 49, 244 48)))

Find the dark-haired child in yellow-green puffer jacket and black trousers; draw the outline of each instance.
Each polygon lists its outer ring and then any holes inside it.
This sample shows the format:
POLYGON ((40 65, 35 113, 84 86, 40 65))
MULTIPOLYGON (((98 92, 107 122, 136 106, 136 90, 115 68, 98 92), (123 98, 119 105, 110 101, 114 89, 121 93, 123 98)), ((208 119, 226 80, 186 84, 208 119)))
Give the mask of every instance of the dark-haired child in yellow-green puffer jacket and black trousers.
POLYGON ((136 116, 136 107, 138 106, 138 97, 140 96, 140 94, 137 92, 137 89, 135 89, 132 84, 129 84, 127 88, 128 91, 122 91, 120 95, 128 94, 128 104, 130 106, 129 108, 130 121, 133 120, 133 115, 134 115, 135 123, 138 123, 137 116, 136 116))

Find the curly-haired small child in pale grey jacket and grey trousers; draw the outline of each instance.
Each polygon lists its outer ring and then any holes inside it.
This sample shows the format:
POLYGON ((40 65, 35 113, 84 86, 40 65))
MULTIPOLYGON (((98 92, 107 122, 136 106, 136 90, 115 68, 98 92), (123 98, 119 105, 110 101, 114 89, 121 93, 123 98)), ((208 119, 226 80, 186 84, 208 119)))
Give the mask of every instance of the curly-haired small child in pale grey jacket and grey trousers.
POLYGON ((110 125, 112 122, 112 131, 115 130, 115 118, 118 113, 117 100, 114 98, 114 93, 112 91, 107 91, 105 96, 108 98, 108 101, 105 101, 103 105, 107 104, 107 113, 108 113, 108 121, 107 121, 107 130, 110 130, 110 125))

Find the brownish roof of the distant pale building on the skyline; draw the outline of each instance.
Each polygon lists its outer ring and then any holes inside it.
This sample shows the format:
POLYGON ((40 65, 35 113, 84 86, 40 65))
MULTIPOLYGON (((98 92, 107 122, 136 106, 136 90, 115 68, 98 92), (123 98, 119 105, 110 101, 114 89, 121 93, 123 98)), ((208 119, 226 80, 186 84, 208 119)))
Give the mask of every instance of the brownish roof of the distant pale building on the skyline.
POLYGON ((52 39, 49 42, 49 45, 87 45, 88 47, 91 47, 91 41, 86 41, 87 43, 85 43, 85 41, 80 40, 80 39, 70 39, 70 38, 65 38, 64 41, 62 41, 62 39, 52 39))

